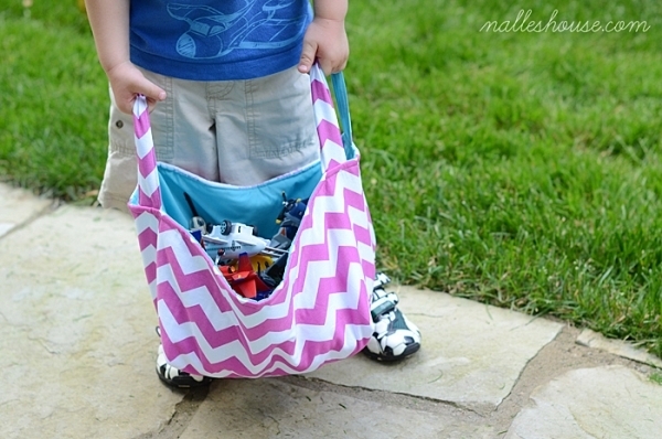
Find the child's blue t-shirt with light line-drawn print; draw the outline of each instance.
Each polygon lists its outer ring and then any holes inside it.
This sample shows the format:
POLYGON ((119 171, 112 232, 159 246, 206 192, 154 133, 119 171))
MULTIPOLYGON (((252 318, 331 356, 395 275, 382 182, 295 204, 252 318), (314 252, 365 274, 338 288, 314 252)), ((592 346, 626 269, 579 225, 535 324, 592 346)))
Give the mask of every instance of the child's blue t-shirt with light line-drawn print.
POLYGON ((132 0, 131 62, 181 79, 271 75, 299 63, 308 0, 132 0))

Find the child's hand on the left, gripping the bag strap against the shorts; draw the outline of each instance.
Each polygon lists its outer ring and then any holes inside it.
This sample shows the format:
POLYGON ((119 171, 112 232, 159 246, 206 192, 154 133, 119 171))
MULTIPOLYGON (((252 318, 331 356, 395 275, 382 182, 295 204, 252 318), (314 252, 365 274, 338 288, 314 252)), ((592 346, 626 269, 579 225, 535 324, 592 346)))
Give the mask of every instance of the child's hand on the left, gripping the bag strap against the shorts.
POLYGON ((110 82, 117 108, 122 113, 131 114, 134 111, 134 103, 139 94, 147 97, 150 111, 158 101, 166 99, 166 92, 147 79, 142 72, 130 62, 118 64, 106 74, 110 82))

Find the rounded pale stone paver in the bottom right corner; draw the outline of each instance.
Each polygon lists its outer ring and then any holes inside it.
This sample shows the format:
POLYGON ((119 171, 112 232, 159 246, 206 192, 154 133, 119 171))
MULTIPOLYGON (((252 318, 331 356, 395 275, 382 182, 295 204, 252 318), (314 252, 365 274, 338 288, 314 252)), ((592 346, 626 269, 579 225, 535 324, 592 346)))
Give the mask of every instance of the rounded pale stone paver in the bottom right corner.
POLYGON ((570 371, 536 388, 505 439, 652 439, 662 435, 662 387, 623 366, 570 371))

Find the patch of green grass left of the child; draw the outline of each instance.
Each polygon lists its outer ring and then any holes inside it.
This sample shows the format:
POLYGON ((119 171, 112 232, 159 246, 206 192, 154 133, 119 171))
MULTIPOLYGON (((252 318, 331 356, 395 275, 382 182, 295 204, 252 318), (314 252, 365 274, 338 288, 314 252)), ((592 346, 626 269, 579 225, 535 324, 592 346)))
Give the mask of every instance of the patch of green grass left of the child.
POLYGON ((0 179, 89 203, 106 158, 107 83, 75 1, 45 3, 26 13, 0 0, 0 179))

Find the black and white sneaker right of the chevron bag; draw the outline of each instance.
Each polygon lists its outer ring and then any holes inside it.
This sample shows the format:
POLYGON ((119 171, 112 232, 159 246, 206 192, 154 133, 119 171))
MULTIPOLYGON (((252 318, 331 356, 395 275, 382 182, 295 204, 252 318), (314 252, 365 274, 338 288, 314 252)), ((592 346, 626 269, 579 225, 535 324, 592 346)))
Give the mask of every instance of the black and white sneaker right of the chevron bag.
POLYGON ((371 358, 383 362, 403 360, 420 349, 420 331, 397 308, 397 295, 384 289, 389 282, 388 276, 377 274, 370 307, 373 335, 363 350, 371 358))

